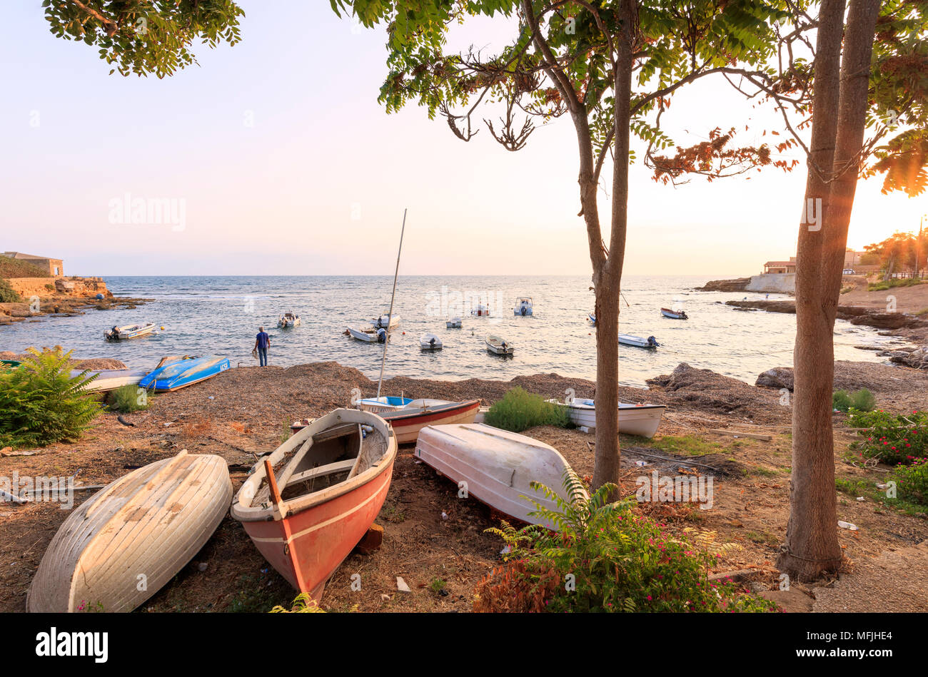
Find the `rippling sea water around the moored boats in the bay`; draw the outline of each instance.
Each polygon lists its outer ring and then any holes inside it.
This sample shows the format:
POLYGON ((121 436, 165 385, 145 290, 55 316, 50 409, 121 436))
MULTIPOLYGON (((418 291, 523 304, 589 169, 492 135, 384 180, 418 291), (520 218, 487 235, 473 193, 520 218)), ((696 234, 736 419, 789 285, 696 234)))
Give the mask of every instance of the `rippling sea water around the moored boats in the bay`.
MULTIPOLYGON (((718 277, 718 276, 716 276, 718 277)), ((390 305, 393 278, 388 276, 183 276, 106 277, 116 296, 153 302, 134 310, 91 310, 76 317, 20 322, 0 329, 3 350, 61 345, 75 355, 112 357, 131 367, 145 367, 162 355, 224 354, 233 365, 257 364, 251 357, 254 335, 264 325, 271 335, 270 364, 290 365, 332 360, 354 366, 368 377, 380 371, 382 345, 342 335, 347 325, 369 325, 390 305), (277 329, 280 313, 302 316, 303 325, 277 329), (113 325, 154 322, 157 336, 118 343, 103 339, 113 325)), ((732 299, 763 299, 765 294, 692 291, 708 277, 629 276, 621 330, 662 344, 657 351, 619 347, 621 380, 641 386, 688 362, 749 383, 772 366, 793 364, 795 315, 742 313, 724 305, 732 299), (665 319, 659 309, 682 303, 688 321, 665 319)), ((586 276, 401 276, 396 289, 400 326, 394 331, 385 376, 423 378, 498 378, 557 372, 594 378, 596 338, 586 321, 593 292, 586 276), (517 296, 531 296, 534 317, 517 317, 517 296), (470 316, 470 306, 489 302, 490 317, 470 316), (445 329, 449 316, 463 317, 462 329, 445 329), (437 334, 443 351, 419 350, 419 336, 437 334), (511 358, 484 350, 483 337, 494 333, 516 347, 511 358)), ((786 298, 770 294, 770 299, 786 298)), ((880 361, 853 345, 883 345, 876 331, 839 320, 835 328, 837 359, 880 361)), ((306 384, 312 388, 312 384, 306 384)))

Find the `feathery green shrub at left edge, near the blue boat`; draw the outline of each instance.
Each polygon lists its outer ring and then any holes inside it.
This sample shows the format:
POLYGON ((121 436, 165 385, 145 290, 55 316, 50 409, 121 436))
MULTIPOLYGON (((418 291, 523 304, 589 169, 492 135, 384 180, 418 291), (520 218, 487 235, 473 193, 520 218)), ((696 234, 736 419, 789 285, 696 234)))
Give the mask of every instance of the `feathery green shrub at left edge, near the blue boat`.
POLYGON ((97 376, 71 376, 71 351, 29 353, 19 368, 0 371, 0 447, 76 440, 100 411, 84 391, 97 376))

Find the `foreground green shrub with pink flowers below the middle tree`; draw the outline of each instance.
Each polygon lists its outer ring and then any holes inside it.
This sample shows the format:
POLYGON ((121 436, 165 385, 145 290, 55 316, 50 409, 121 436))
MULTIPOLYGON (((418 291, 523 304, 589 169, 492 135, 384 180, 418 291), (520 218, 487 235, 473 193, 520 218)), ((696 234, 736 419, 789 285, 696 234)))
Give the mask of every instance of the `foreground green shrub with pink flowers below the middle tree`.
POLYGON ((480 581, 474 611, 774 611, 730 581, 709 581, 717 555, 674 536, 631 502, 607 503, 616 486, 586 497, 576 474, 564 473, 564 500, 533 483, 558 505, 530 513, 557 525, 490 529, 509 546, 506 563, 480 581))

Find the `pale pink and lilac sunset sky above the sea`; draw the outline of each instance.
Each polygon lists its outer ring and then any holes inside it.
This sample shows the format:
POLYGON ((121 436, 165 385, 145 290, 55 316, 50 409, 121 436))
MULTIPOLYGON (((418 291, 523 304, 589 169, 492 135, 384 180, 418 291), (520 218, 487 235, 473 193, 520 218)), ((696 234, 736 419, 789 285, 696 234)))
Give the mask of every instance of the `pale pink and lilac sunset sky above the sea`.
MULTIPOLYGON (((239 5, 238 45, 197 45, 199 66, 163 80, 109 75, 96 47, 48 31, 40 0, 5 7, 0 250, 63 259, 69 275, 391 275, 408 209, 401 274, 590 273, 567 116, 519 152, 486 130, 464 143, 425 109, 378 104, 382 29, 328 2, 239 5), (170 223, 134 223, 140 199, 170 223)), ((451 46, 510 33, 477 20, 451 46)), ((748 124, 736 140, 756 145, 776 118, 703 81, 664 123, 685 145, 748 124)), ((749 176, 675 187, 633 164, 625 274, 754 275, 794 255, 805 168, 749 176)), ((855 249, 928 212, 928 198, 881 185, 857 187, 855 249)))

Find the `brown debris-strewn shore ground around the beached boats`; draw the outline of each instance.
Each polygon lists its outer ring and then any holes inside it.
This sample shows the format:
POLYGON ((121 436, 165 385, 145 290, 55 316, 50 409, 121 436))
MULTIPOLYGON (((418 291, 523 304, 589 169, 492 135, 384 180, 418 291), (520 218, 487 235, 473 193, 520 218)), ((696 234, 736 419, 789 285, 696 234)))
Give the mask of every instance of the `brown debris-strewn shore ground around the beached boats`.
MULTIPOLYGON (((835 374, 836 387, 866 384, 883 408, 902 411, 914 402, 924 406, 928 389, 928 374, 924 372, 882 364, 838 363, 835 374)), ((589 381, 554 374, 517 377, 509 382, 401 377, 387 381, 386 390, 403 390, 409 397, 477 397, 491 403, 514 385, 548 397, 560 396, 567 387, 574 388, 578 396, 591 395, 593 390, 589 381)), ((187 449, 223 456, 238 490, 255 463, 254 454, 284 441, 291 420, 345 405, 353 388, 367 395, 376 390, 376 384, 357 370, 334 363, 232 369, 210 381, 157 396, 145 412, 123 415, 134 424, 132 427, 122 425, 116 415, 105 414, 81 441, 33 450, 32 455, 0 457, 0 475, 17 470, 21 475, 68 476, 80 470, 78 478, 85 484, 105 484, 135 467, 187 449)), ((779 573, 774 562, 789 517, 791 463, 791 410, 780 404, 780 392, 706 370, 679 367, 674 375, 656 379, 650 391, 627 389, 622 394, 631 401, 647 399, 668 405, 654 441, 623 440, 625 493, 634 492, 634 480, 642 472, 634 466, 636 460, 674 474, 710 472, 705 466, 715 468, 711 471, 715 476, 712 509, 663 504, 646 505, 647 512, 666 521, 672 530, 690 527, 714 532, 715 543, 730 543, 732 548, 721 560, 720 572, 747 569, 754 572, 754 586, 775 587, 779 573), (768 434, 772 440, 714 434, 709 428, 768 434)), ((836 415, 836 428, 843 425, 843 416, 836 415)), ((552 444, 581 476, 591 475, 591 435, 547 427, 524 434, 552 444)), ((882 481, 887 468, 865 469, 844 461, 853 434, 844 430, 836 433, 838 477, 866 483, 882 481)), ((499 561, 502 543, 484 533, 498 524, 498 516, 475 500, 458 499, 457 487, 417 463, 413 449, 411 445, 401 447, 391 489, 377 519, 385 529, 383 544, 372 555, 355 552, 349 556, 329 581, 322 607, 334 611, 467 611, 475 584, 499 561), (361 576, 360 590, 352 588, 354 573, 361 576), (396 591, 397 576, 406 580, 411 593, 396 591), (432 590, 432 584, 439 580, 445 581, 446 595, 432 590)), ((650 471, 651 467, 645 469, 650 471)), ((89 495, 78 494, 78 500, 89 495)), ((910 549, 928 538, 928 520, 856 498, 838 494, 839 518, 859 527, 857 531, 839 531, 849 573, 838 582, 859 581, 857 594, 850 594, 855 609, 892 610, 884 609, 883 596, 873 593, 893 590, 902 599, 913 580, 923 580, 928 563, 910 549), (907 553, 901 568, 904 571, 896 567, 885 573, 885 568, 872 568, 879 566, 873 563, 891 557, 887 553, 893 551, 907 553), (874 572, 879 571, 884 573, 874 579, 874 572)), ((54 504, 0 505, 4 533, 0 541, 0 611, 23 609, 32 575, 66 516, 67 511, 54 504)), ((822 581, 820 586, 838 590, 833 581, 822 581)), ((793 586, 793 594, 811 601, 813 591, 793 586)), ((277 604, 288 605, 294 596, 238 522, 226 517, 193 562, 142 610, 266 611, 277 604), (205 570, 200 570, 200 564, 205 570)), ((912 610, 928 610, 924 599, 908 596, 912 610)), ((833 605, 827 608, 839 610, 833 605)))

